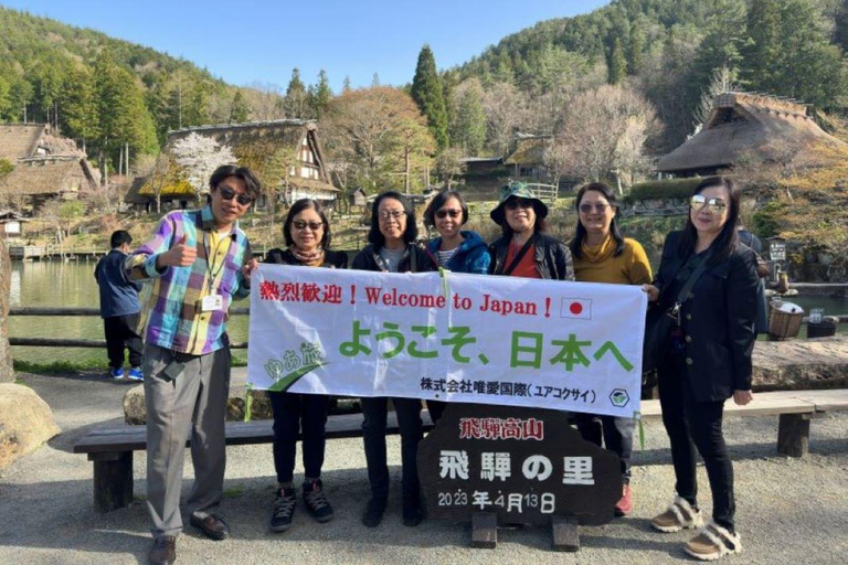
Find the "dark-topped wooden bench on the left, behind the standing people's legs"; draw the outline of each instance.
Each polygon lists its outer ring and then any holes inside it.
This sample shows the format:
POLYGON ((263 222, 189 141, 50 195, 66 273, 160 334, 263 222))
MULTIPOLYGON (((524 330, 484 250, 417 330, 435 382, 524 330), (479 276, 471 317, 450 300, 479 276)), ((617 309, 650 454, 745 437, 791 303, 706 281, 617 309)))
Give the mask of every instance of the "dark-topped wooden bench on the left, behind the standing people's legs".
MULTIPOLYGON (((433 428, 430 413, 423 411, 424 430, 433 428)), ((327 439, 361 437, 362 414, 340 414, 327 418, 327 439)), ((274 440, 273 420, 227 422, 226 445, 247 446, 274 440)), ((389 413, 386 434, 399 434, 398 417, 389 413)), ((186 440, 186 446, 191 444, 186 440)), ((110 512, 132 502, 132 452, 147 449, 146 426, 120 426, 89 431, 76 444, 75 454, 88 454, 94 463, 94 508, 110 512)), ((271 457, 271 456, 268 456, 271 457)))

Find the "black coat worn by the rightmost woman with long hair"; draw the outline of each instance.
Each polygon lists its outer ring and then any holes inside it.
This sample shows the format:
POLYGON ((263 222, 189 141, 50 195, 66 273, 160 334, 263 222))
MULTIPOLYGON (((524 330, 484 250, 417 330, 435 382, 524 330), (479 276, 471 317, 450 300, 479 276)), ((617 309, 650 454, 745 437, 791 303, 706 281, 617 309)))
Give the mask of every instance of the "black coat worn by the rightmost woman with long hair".
MULTIPOLYGON (((677 253, 680 235, 681 232, 672 232, 666 238, 654 281, 659 288, 658 306, 664 309, 677 299, 677 292, 668 287, 686 262, 677 253), (664 287, 668 291, 664 292, 664 287)), ((698 401, 723 401, 733 396, 733 391, 751 390, 759 280, 754 252, 739 244, 730 257, 711 260, 683 301, 683 377, 698 401)), ((676 371, 672 365, 660 363, 660 377, 674 377, 668 375, 676 371)))

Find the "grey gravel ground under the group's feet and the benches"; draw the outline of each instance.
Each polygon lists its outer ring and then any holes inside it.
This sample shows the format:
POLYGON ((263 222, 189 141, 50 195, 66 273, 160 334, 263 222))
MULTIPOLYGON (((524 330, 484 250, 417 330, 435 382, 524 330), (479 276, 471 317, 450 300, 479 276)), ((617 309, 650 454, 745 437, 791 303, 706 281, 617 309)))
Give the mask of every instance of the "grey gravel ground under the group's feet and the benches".
MULTIPOLYGON (((137 501, 97 514, 91 463, 71 452, 74 440, 92 428, 123 422, 120 398, 127 386, 91 375, 20 376, 51 405, 64 433, 1 471, 0 564, 147 563, 145 454, 135 456, 137 501)), ((727 420, 736 475, 736 522, 745 551, 724 562, 848 562, 848 414, 813 420, 810 454, 804 459, 777 456, 776 435, 776 416, 727 420)), ((393 486, 399 489, 399 438, 392 437, 389 445, 393 486)), ((300 505, 288 532, 267 533, 274 486, 271 446, 231 447, 221 513, 233 539, 212 542, 187 529, 177 545, 178 563, 692 563, 682 551, 689 533, 659 534, 648 524, 670 502, 674 489, 668 440, 658 422, 645 425, 645 449, 635 454, 635 512, 605 526, 581 527, 582 548, 574 554, 552 552, 550 531, 543 527, 501 530, 494 551, 469 548, 470 529, 465 524, 427 521, 404 527, 398 490, 381 526, 369 530, 359 521, 368 497, 361 439, 336 439, 328 447, 324 480, 336 520, 318 524, 300 505)), ((191 475, 187 462, 184 492, 191 475)), ((699 483, 701 504, 710 508, 702 468, 699 483)))

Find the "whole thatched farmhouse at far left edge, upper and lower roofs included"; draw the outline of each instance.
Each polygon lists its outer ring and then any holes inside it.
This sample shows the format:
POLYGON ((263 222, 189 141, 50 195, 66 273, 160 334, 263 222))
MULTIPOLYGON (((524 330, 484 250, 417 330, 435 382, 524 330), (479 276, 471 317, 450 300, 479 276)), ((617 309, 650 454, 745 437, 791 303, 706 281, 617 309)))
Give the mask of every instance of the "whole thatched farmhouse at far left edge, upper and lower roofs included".
POLYGON ((0 202, 26 213, 46 200, 74 200, 99 180, 76 143, 45 124, 0 124, 0 159, 12 167, 0 178, 0 202))

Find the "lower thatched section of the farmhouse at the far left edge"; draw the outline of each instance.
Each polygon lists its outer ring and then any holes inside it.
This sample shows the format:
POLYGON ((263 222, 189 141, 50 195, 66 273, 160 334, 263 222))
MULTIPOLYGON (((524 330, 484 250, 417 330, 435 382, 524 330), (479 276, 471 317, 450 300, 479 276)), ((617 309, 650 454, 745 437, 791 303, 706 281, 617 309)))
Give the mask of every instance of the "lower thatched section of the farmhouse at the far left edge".
POLYGON ((0 180, 0 199, 23 199, 36 207, 56 196, 75 199, 81 190, 96 184, 97 171, 77 156, 18 159, 12 172, 0 180))

